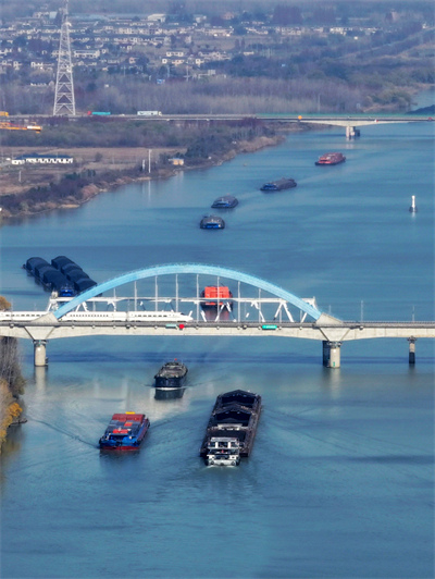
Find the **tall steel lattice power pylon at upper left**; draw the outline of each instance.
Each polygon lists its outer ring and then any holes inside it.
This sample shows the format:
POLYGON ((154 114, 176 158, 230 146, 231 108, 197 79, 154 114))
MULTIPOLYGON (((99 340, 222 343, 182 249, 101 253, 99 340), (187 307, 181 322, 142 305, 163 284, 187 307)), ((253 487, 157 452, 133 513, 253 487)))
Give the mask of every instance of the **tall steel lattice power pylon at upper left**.
POLYGON ((63 9, 61 40, 59 44, 58 75, 53 116, 75 115, 73 66, 71 64, 70 23, 67 21, 67 0, 63 9))

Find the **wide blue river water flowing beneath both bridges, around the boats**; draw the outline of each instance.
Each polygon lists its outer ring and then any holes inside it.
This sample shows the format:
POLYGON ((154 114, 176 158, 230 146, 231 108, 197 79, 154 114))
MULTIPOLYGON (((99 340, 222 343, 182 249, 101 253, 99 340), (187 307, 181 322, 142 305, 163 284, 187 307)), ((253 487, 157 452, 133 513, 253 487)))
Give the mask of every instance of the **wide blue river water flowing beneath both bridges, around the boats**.
MULTIPOLYGON (((0 294, 39 309, 21 266, 66 255, 91 278, 203 262, 266 279, 343 319, 434 320, 434 132, 430 124, 293 134, 207 171, 128 185, 77 210, 0 230, 0 294), (314 167, 340 150, 346 163, 314 167), (265 181, 296 189, 266 195, 265 181), (198 227, 235 195, 224 231, 198 227), (408 208, 417 196, 419 212, 408 208)), ((210 337, 69 338, 34 369, 22 343, 28 422, 1 455, 4 579, 428 578, 434 572, 434 344, 210 337), (156 401, 161 362, 188 387, 156 401), (217 394, 260 393, 249 459, 207 468, 198 449, 217 394), (100 455, 115 411, 145 411, 140 453, 100 455)))

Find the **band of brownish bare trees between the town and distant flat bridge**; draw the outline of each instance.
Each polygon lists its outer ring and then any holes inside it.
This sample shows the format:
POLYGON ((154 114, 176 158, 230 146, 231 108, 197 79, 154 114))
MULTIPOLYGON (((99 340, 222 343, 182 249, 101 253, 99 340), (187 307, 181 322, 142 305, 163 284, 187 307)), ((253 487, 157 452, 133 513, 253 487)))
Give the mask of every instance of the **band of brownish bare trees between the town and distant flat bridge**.
MULTIPOLYGON (((222 72, 233 66, 236 63, 222 67, 222 72)), ((362 64, 357 71, 346 63, 324 59, 321 67, 312 69, 308 64, 307 76, 296 78, 291 78, 295 65, 288 67, 289 78, 260 76, 264 67, 269 67, 271 74, 277 70, 274 63, 261 57, 249 62, 243 59, 237 66, 245 76, 198 83, 174 79, 164 85, 151 84, 137 76, 112 76, 107 86, 108 78, 101 75, 90 89, 76 84, 76 112, 83 115, 87 111, 136 114, 141 110, 158 110, 163 114, 308 113, 319 112, 319 106, 322 112, 356 112, 369 107, 384 90, 397 88, 408 93, 407 101, 402 103, 406 108, 412 97, 412 87, 434 79, 431 66, 413 69, 412 63, 409 74, 403 75, 397 67, 385 71, 381 65, 377 72, 362 64)), ((10 114, 52 113, 54 91, 50 87, 41 91, 23 89, 18 82, 13 82, 3 85, 1 93, 4 110, 10 114)), ((391 99, 389 103, 393 102, 391 99)))

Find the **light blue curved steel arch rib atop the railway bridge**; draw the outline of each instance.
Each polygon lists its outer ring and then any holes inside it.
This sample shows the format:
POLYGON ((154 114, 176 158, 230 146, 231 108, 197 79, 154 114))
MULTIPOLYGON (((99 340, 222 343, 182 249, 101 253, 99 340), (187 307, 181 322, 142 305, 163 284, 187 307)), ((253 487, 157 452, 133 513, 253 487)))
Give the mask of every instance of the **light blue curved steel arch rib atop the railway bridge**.
POLYGON ((314 308, 313 306, 310 306, 300 297, 295 296, 294 294, 290 294, 290 292, 283 290, 283 287, 266 282, 261 278, 249 275, 248 273, 243 273, 241 271, 221 268, 217 266, 206 266, 203 263, 169 263, 166 266, 154 266, 151 268, 130 271, 129 273, 124 273, 119 278, 113 278, 112 280, 95 285, 90 290, 83 292, 70 301, 66 301, 63 306, 53 311, 53 313, 59 320, 60 318, 62 318, 62 316, 65 316, 65 313, 67 313, 69 311, 72 311, 73 309, 77 308, 87 299, 96 297, 99 294, 102 294, 103 292, 108 292, 109 290, 113 290, 114 287, 119 287, 120 285, 124 285, 129 282, 136 282, 138 280, 144 280, 146 278, 153 278, 156 275, 167 275, 173 273, 198 273, 202 275, 219 275, 221 278, 227 278, 228 280, 235 280, 237 282, 247 283, 249 285, 258 287, 259 290, 270 292, 271 294, 274 294, 275 296, 285 299, 286 301, 307 312, 307 315, 314 318, 314 320, 318 320, 322 315, 319 309, 314 308))

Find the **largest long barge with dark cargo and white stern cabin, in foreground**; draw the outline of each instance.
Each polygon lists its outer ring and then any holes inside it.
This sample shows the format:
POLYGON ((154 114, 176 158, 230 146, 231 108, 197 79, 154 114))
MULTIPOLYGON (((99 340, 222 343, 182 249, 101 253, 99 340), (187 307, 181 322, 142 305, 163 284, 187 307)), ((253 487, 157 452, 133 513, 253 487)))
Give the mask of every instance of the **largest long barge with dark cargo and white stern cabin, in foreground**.
POLYGON ((244 390, 220 394, 213 406, 199 455, 207 465, 239 464, 252 451, 261 396, 244 390))

